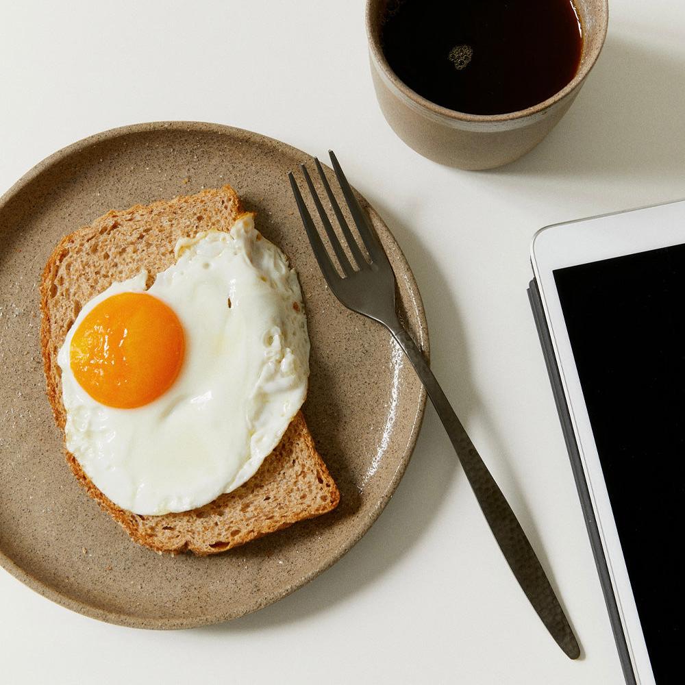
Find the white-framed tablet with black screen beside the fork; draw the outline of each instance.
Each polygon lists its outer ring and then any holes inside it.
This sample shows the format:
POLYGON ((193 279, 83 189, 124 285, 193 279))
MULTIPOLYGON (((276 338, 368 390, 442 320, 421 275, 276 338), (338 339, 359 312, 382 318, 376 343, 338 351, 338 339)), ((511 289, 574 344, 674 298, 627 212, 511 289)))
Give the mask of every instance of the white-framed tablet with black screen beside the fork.
POLYGON ((685 643, 685 201, 546 227, 531 257, 626 680, 677 682, 685 643))

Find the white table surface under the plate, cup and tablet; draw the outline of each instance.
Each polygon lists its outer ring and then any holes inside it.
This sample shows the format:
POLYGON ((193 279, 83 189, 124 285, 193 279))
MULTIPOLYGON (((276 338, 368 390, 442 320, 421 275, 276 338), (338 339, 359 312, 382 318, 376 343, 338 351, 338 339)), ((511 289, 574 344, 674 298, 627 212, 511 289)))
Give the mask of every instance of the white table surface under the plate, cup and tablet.
POLYGON ((336 150, 408 257, 435 373, 583 647, 568 660, 528 606, 429 407, 369 534, 257 614, 132 630, 0 571, 3 682, 623 682, 525 292, 539 227, 685 196, 685 3, 610 4, 569 114, 523 160, 473 173, 421 158, 386 125, 362 0, 0 0, 0 192, 64 145, 140 121, 216 121, 336 150))

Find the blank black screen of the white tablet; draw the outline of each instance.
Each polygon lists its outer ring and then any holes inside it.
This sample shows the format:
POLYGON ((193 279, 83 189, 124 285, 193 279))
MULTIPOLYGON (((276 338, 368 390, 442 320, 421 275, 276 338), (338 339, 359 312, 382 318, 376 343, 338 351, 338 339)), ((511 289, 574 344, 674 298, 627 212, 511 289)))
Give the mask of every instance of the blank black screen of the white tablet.
POLYGON ((685 642, 685 245, 557 269, 554 279, 654 675, 677 682, 685 642))

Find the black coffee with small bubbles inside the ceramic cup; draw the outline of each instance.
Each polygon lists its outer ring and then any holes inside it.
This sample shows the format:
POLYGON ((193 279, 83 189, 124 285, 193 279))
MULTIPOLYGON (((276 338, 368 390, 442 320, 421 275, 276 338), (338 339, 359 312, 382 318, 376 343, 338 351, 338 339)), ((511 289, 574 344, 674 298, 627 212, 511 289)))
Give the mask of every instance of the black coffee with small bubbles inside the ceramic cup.
POLYGON ((573 79, 582 29, 571 0, 390 0, 381 42, 419 95, 458 112, 505 114, 573 79))

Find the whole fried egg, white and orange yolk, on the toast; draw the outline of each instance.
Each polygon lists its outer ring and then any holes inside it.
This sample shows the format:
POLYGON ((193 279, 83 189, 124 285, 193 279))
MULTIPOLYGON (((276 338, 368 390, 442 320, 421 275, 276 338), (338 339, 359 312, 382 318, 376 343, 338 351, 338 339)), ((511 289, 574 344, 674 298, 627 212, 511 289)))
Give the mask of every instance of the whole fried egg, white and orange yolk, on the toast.
POLYGON ((179 240, 176 262, 79 312, 58 354, 66 447, 136 514, 183 512, 242 485, 307 393, 297 274, 243 215, 179 240))

